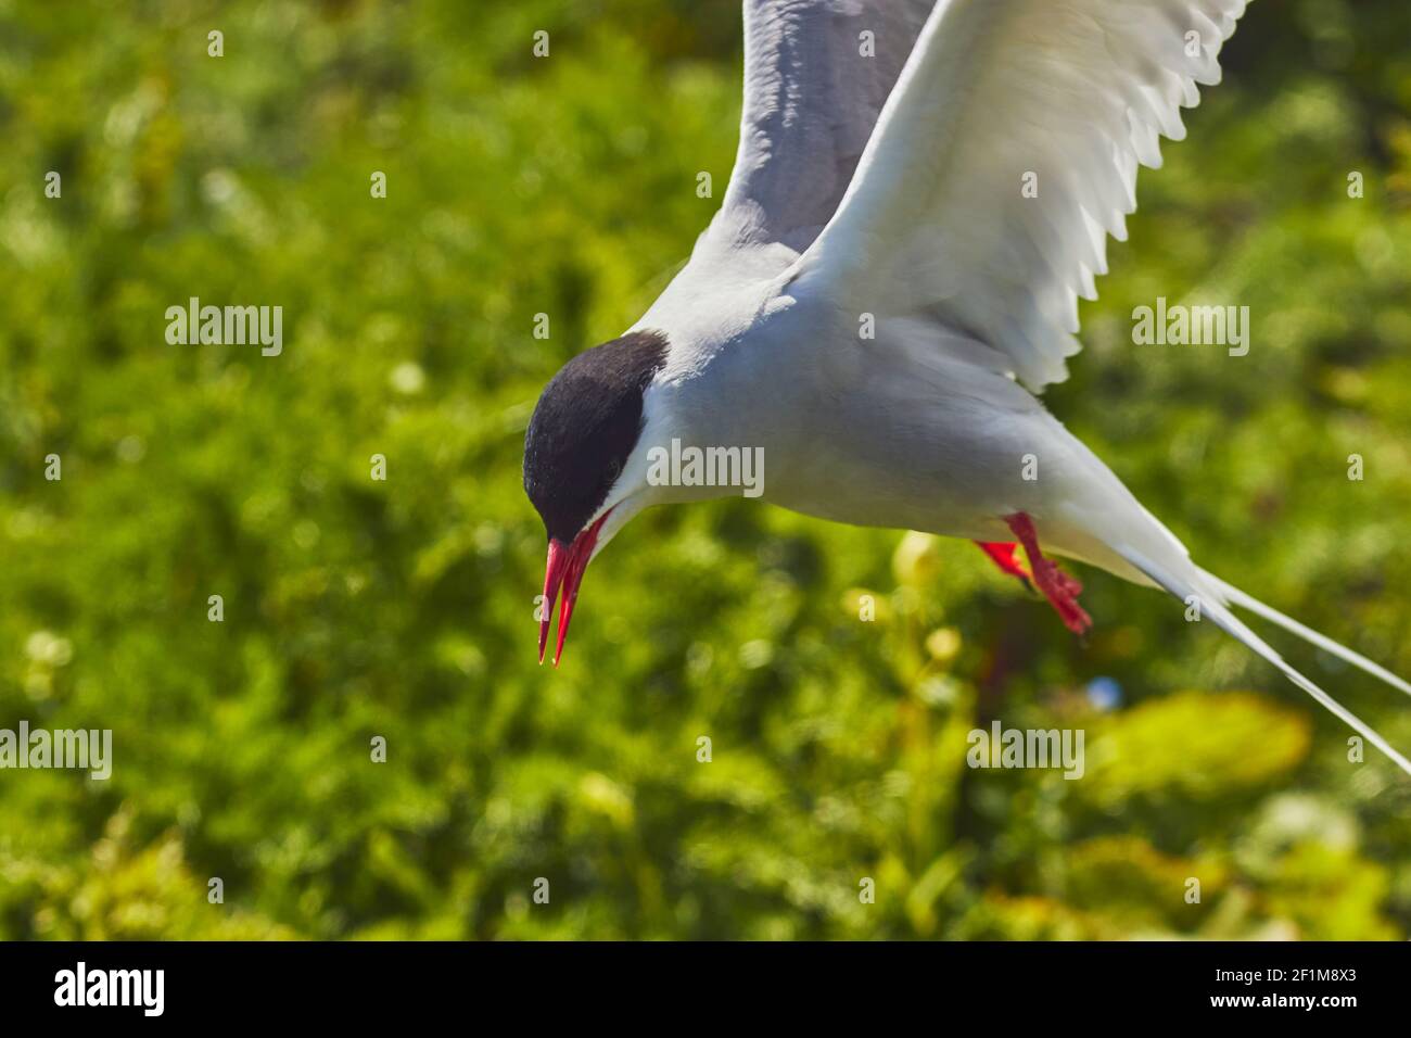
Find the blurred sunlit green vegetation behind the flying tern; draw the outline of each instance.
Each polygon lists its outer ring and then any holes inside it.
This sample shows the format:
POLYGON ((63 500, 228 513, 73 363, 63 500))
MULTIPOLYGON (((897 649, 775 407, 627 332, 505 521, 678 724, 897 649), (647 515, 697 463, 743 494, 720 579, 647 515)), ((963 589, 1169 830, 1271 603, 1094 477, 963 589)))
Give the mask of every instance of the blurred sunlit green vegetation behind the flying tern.
MULTIPOLYGON (((0 0, 0 727, 114 732, 107 782, 0 772, 0 936, 1411 933, 1408 780, 1101 573, 1084 647, 965 544, 658 510, 535 662, 523 426, 711 216, 735 3, 123 7, 0 0), (282 305, 284 354, 166 345, 189 297, 282 305), (1085 778, 967 768, 996 717, 1086 729, 1085 778)), ((1408 41, 1404 0, 1254 3, 1048 395, 1401 674, 1408 41), (1249 356, 1133 346, 1158 295, 1249 305, 1249 356)), ((1404 698, 1276 644, 1411 750, 1404 698)))

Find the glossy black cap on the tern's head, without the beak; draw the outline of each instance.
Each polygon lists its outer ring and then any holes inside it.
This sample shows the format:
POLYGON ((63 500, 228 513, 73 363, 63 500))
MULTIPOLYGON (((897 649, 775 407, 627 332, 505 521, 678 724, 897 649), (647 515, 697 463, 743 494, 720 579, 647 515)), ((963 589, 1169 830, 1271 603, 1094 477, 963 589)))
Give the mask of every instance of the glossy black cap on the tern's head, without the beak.
POLYGON ((666 349, 660 332, 632 332, 584 350, 545 387, 525 434, 525 493, 550 538, 571 544, 607 499, 666 349))

